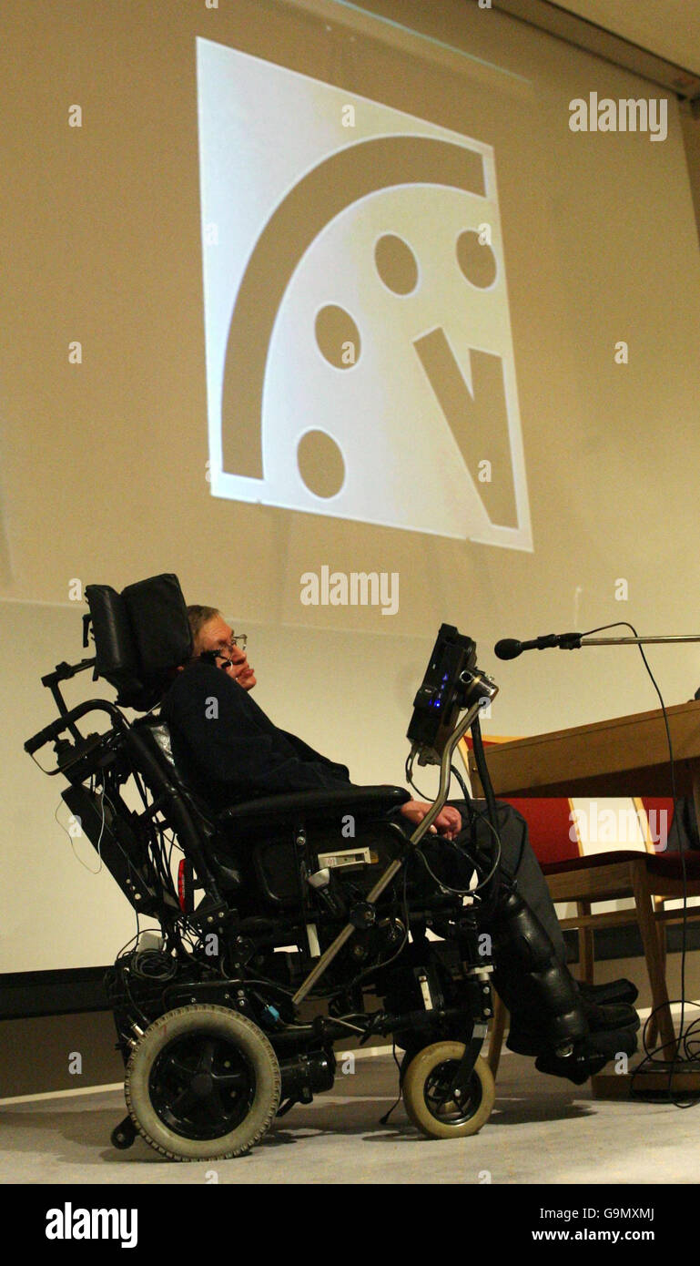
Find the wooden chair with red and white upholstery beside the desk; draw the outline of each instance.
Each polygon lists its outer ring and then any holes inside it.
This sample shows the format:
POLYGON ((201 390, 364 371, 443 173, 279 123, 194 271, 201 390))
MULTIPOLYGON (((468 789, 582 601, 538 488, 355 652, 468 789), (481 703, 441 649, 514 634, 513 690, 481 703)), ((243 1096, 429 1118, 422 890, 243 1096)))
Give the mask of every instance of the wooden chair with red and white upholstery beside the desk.
MULTIPOLYGON (((485 739, 485 743, 492 741, 485 739)), ((465 763, 470 746, 468 741, 462 741, 465 763)), ((632 804, 639 824, 637 841, 632 846, 625 841, 622 846, 611 844, 603 852, 586 853, 589 842, 582 839, 580 810, 576 809, 581 801, 534 796, 500 799, 508 799, 528 823, 530 843, 554 904, 576 905, 576 915, 561 919, 559 923, 562 928, 576 928, 578 932, 581 980, 587 984, 594 982, 594 928, 622 927, 630 923, 638 925, 652 991, 652 1009, 658 1008, 656 1023, 649 1025, 649 1036, 653 1043, 658 1028, 663 1046, 659 1053, 671 1058, 676 1051, 676 1036, 666 985, 665 925, 681 922, 682 912, 666 910, 663 906, 667 900, 682 898, 682 870, 678 853, 656 849, 649 815, 653 812, 657 814, 666 812, 670 825, 672 801, 634 799, 632 804), (591 909, 600 903, 629 898, 634 901, 630 909, 606 912, 591 909)), ((606 804, 604 800, 595 803, 606 804)), ((685 865, 687 896, 700 896, 700 852, 685 852, 685 865)), ((690 908, 687 914, 690 919, 699 918, 700 906, 690 908)), ((506 1012, 497 999, 489 1047, 489 1063, 494 1075, 499 1066, 505 1024, 506 1012)))

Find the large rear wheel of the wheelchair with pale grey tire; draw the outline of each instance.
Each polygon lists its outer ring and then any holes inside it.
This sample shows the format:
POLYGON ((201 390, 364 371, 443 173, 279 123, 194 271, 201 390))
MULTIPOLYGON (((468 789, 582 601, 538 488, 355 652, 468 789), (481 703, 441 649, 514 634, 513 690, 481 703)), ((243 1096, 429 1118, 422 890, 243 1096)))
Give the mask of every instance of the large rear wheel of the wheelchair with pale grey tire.
POLYGON ((280 1090, 280 1065, 262 1029, 238 1012, 205 1003, 180 1006, 151 1024, 132 1051, 124 1084, 137 1129, 173 1161, 248 1152, 273 1122, 280 1090), (210 1069, 216 1063, 214 1076, 203 1071, 205 1058, 210 1069), (227 1079, 237 1082, 235 1090, 227 1079), (178 1106, 184 1103, 186 1109, 178 1106), (203 1131, 208 1137, 197 1137, 203 1131))

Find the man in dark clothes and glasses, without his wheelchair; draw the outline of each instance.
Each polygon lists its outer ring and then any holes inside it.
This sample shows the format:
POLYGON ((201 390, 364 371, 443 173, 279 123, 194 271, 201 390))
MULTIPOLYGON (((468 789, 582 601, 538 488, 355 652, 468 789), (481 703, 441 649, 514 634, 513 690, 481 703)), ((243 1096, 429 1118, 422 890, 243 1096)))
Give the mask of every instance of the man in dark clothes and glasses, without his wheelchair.
MULTIPOLYGON (((189 606, 187 615, 192 658, 178 671, 165 695, 161 715, 171 730, 176 763, 204 799, 224 808, 241 796, 249 799, 251 794, 351 787, 346 766, 278 729, 249 698, 256 676, 244 646, 239 646, 243 639, 235 639, 222 613, 211 606, 189 606)), ((411 799, 394 810, 394 817, 418 825, 428 809, 428 804, 411 799)), ((453 801, 442 809, 430 832, 457 846, 456 849, 433 847, 434 868, 446 872, 446 882, 452 880, 456 887, 468 887, 468 852, 459 846, 489 847, 485 805, 453 801)), ((599 1066, 604 1056, 611 1058, 623 1051, 632 1055, 637 1048, 634 1033, 639 1019, 629 1003, 634 1001, 637 990, 629 981, 615 981, 600 989, 577 986, 566 967, 563 937, 529 844, 527 824, 508 804, 497 805, 497 833, 500 868, 513 885, 511 913, 506 914, 505 901, 494 922, 494 980, 510 1012, 508 1046, 518 1053, 539 1057, 542 1071, 568 1075, 566 1060, 558 1060, 551 1050, 547 1025, 539 1023, 544 1008, 533 985, 539 986, 546 979, 553 998, 571 993, 573 1004, 578 995, 578 1005, 591 1031, 587 1053, 592 1065, 599 1066), (513 920, 513 932, 509 920, 513 920), (511 934, 528 943, 537 942, 538 951, 533 955, 515 952, 511 934), (544 944, 546 938, 551 946, 544 944)))

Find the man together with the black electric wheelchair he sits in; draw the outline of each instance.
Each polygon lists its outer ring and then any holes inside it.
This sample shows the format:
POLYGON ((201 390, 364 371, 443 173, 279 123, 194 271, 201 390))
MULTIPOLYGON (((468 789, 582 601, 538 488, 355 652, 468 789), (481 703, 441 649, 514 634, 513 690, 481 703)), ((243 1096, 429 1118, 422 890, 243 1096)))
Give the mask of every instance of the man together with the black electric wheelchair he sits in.
POLYGON ((404 1048, 404 1101, 424 1133, 475 1133, 494 1101, 478 1055, 491 972, 509 1046, 541 1071, 581 1084, 634 1052, 635 990, 576 986, 524 820, 492 796, 447 804, 452 751, 468 724, 476 738, 484 690, 497 689, 471 639, 443 625, 416 695, 413 752, 441 765, 428 805, 353 785, 346 766, 278 729, 251 698, 243 647, 215 609, 187 617, 177 577, 86 596, 95 657, 42 679, 61 717, 24 746, 54 743, 47 772, 68 780, 71 813, 161 928, 108 974, 129 1106, 115 1146, 138 1129, 177 1160, 241 1155, 275 1115, 333 1085, 335 1042, 375 1034, 404 1048), (453 666, 439 718, 427 691, 438 647, 453 666), (116 704, 68 711, 61 682, 87 667, 116 704), (129 723, 123 708, 146 715, 129 723), (111 729, 84 736, 77 722, 94 711, 111 729))

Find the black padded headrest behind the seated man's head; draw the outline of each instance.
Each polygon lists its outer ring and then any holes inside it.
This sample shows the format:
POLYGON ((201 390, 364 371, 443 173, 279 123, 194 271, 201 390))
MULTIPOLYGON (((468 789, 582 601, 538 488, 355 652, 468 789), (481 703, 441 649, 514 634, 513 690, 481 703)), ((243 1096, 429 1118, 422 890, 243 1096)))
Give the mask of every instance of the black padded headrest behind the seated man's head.
POLYGON ((95 670, 118 690, 122 708, 148 711, 172 671, 192 653, 187 608, 177 576, 163 573, 127 585, 86 585, 95 638, 95 670))

